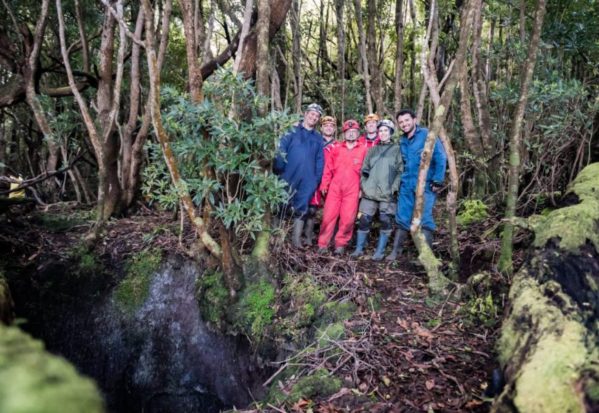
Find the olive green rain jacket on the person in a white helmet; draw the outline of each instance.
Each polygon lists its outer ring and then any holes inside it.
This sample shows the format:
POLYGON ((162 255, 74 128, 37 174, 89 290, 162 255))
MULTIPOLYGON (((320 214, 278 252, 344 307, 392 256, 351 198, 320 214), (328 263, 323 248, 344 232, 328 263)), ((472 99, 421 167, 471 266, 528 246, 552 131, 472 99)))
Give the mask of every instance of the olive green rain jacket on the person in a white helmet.
POLYGON ((379 145, 368 149, 361 170, 365 169, 370 169, 370 175, 368 178, 364 177, 363 173, 360 176, 362 198, 397 202, 399 182, 403 172, 399 144, 389 140, 387 143, 379 142, 379 145))

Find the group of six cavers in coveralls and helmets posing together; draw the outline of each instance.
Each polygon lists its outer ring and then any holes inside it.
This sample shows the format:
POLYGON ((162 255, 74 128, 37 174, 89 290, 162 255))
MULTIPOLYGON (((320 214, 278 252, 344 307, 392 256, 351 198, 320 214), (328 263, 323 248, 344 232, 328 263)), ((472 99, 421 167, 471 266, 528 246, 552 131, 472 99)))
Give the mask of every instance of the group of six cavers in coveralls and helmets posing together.
MULTIPOLYGON (((401 130, 395 142, 395 123, 380 120, 377 114, 364 118, 364 134, 357 120, 346 120, 341 128, 342 141, 335 140, 337 123, 322 116, 322 107, 308 105, 304 120, 288 131, 280 142, 273 172, 288 185, 288 205, 279 212, 291 212, 294 246, 313 244, 317 210, 324 207, 318 235, 318 249, 324 252, 334 242, 334 253, 343 254, 353 235, 356 218, 356 246, 351 256, 364 254, 370 226, 379 212, 380 232, 372 260, 382 260, 395 227, 392 251, 386 260, 395 260, 403 251, 412 211, 428 129, 417 124, 410 109, 395 116, 401 130), (316 127, 320 125, 320 132, 316 127)), ((434 145, 425 185, 422 231, 432 247, 435 229, 432 207, 443 186, 447 156, 441 142, 434 145)))

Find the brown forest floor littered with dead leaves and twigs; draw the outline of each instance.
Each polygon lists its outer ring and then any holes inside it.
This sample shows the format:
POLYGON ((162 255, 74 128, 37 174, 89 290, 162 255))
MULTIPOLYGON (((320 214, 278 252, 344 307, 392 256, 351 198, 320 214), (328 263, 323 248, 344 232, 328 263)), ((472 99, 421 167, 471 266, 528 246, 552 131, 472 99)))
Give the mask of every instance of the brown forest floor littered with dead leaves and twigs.
MULTIPOLYGON (((89 213, 85 209, 61 207, 30 213, 26 224, 22 219, 25 215, 3 220, 0 260, 8 266, 27 265, 44 257, 72 260, 70 251, 76 249, 87 230, 89 213), (52 216, 61 214, 68 215, 70 224, 61 226, 58 220, 52 222, 52 216)), ((180 254, 176 235, 179 223, 169 215, 142 210, 133 218, 108 222, 98 257, 103 263, 124 262, 127 256, 150 245, 180 254)), ((483 233, 495 224, 490 220, 483 224, 484 228, 461 235, 462 281, 472 273, 492 271, 488 257, 496 253, 497 242, 482 242, 474 233, 483 233)), ((189 242, 193 238, 189 226, 182 238, 184 244, 186 239, 189 242)), ((370 240, 366 253, 374 251, 375 242, 370 240)), ((434 250, 446 251, 447 244, 447 231, 439 231, 434 250)), ((355 317, 345 321, 346 331, 352 331, 355 324, 367 328, 337 343, 348 354, 337 359, 336 363, 342 366, 322 358, 323 366, 344 380, 339 392, 264 407, 296 412, 486 412, 490 409, 492 399, 485 396, 485 389, 496 368, 493 347, 501 307, 495 313, 488 313, 481 301, 430 299, 426 274, 418 264, 410 240, 404 254, 393 263, 373 262, 369 255, 352 260, 348 255, 339 258, 313 251, 315 248, 296 251, 298 260, 304 260, 304 268, 313 266, 317 272, 324 266, 342 263, 344 268, 351 268, 357 284, 378 297, 378 308, 358 303, 355 317)), ((448 264, 448 257, 442 259, 448 264)), ((276 380, 273 385, 285 388, 276 380)))

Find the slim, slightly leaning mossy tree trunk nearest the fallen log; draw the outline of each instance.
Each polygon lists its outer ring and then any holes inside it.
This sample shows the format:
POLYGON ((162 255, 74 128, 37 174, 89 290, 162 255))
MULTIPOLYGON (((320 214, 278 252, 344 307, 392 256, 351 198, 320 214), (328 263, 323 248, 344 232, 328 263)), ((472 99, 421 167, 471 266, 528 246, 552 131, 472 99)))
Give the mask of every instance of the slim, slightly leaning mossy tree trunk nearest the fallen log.
MULTIPOLYGON (((534 25, 526 61, 521 72, 520 96, 514 111, 512 125, 509 128, 509 183, 507 190, 507 200, 505 206, 505 218, 507 220, 516 215, 516 200, 518 200, 518 185, 520 184, 520 147, 522 145, 522 123, 524 112, 528 103, 528 92, 534 66, 536 63, 536 54, 538 43, 540 41, 540 32, 543 28, 543 17, 545 17, 546 0, 537 0, 534 12, 534 25)), ((504 275, 511 275, 514 272, 512 265, 512 250, 514 248, 514 225, 506 222, 503 228, 503 238, 501 240, 501 256, 497 262, 497 268, 504 275)))

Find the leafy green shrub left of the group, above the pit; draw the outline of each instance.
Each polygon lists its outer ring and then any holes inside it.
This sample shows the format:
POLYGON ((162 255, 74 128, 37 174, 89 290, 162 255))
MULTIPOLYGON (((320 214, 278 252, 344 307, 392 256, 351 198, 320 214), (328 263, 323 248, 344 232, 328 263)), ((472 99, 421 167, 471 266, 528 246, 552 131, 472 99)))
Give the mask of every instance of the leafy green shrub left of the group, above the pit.
POLYGON ((286 202, 286 184, 269 172, 280 136, 297 121, 288 109, 260 116, 266 103, 251 80, 220 69, 204 83, 205 99, 192 103, 173 87, 162 90, 162 120, 181 174, 171 184, 162 151, 149 144, 143 176, 149 202, 174 209, 180 191, 200 205, 208 200, 213 215, 227 228, 251 237, 262 231, 267 208, 286 202), (251 121, 248 121, 251 119, 251 121))

